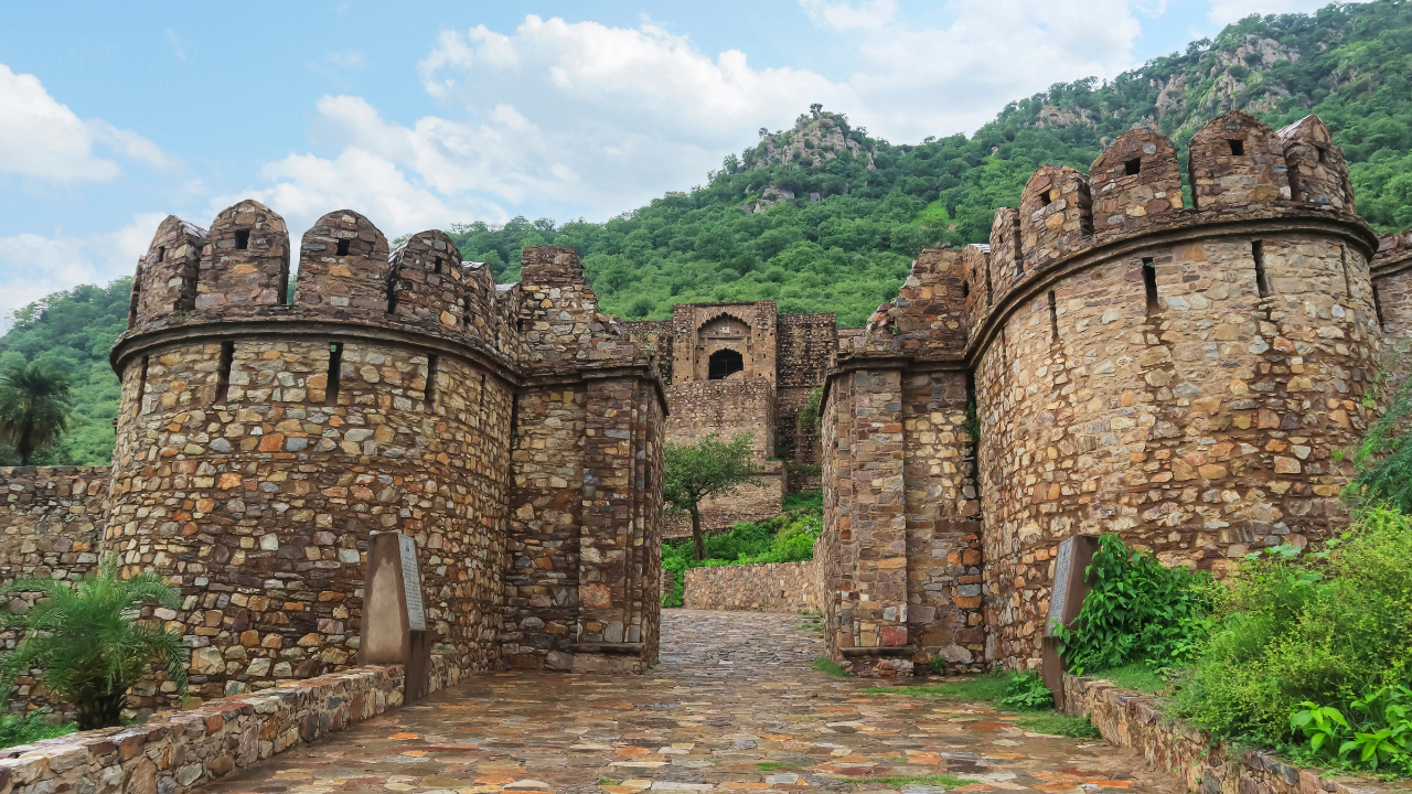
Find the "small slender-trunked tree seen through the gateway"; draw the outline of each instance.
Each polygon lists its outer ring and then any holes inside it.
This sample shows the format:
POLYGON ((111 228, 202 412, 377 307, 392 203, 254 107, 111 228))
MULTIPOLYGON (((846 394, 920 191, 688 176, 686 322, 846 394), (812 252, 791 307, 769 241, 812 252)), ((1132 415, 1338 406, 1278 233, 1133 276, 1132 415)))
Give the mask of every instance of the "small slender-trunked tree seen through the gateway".
POLYGON ((668 444, 662 497, 675 513, 692 517, 696 559, 706 559, 706 535, 702 534, 700 503, 736 493, 743 485, 758 485, 764 469, 755 466, 750 452, 753 434, 744 432, 729 444, 707 435, 696 444, 668 444))

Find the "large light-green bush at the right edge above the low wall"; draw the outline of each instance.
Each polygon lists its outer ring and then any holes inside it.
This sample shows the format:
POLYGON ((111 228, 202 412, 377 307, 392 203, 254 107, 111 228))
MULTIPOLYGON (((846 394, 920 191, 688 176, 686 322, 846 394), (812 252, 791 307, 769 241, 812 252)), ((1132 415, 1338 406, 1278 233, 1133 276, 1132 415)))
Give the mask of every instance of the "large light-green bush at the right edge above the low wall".
POLYGON ((1408 682, 1412 519, 1367 507, 1344 538, 1312 554, 1284 545, 1243 562, 1182 681, 1180 713, 1216 736, 1313 752, 1293 715, 1315 706, 1353 715, 1356 702, 1408 682))

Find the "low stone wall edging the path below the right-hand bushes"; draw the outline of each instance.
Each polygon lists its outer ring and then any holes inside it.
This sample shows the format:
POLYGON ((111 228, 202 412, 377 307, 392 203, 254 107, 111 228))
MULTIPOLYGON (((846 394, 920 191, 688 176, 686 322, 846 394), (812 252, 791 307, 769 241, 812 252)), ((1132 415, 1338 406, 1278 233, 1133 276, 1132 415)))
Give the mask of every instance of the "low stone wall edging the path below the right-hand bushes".
POLYGON ((1281 763, 1260 750, 1213 742, 1158 711, 1155 698, 1120 689, 1110 681, 1063 677, 1065 713, 1083 715, 1103 737, 1137 750, 1147 766, 1180 774, 1193 794, 1368 794, 1392 787, 1361 777, 1324 777, 1317 769, 1281 763))

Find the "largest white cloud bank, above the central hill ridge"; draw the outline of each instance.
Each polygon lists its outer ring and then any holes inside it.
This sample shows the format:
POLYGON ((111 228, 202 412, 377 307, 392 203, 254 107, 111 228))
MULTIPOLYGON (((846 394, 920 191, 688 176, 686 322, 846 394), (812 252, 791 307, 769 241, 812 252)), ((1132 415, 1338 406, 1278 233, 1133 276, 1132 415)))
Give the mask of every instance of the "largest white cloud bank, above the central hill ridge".
POLYGON ((815 102, 898 141, 974 130, 1004 100, 1131 66, 1135 13, 1161 0, 952 0, 936 28, 897 18, 892 0, 801 1, 847 41, 851 75, 710 57, 651 23, 443 31, 418 66, 441 114, 400 123, 325 96, 311 137, 326 151, 271 164, 256 195, 291 227, 347 206, 388 236, 520 212, 602 219, 700 184, 761 124, 815 102))

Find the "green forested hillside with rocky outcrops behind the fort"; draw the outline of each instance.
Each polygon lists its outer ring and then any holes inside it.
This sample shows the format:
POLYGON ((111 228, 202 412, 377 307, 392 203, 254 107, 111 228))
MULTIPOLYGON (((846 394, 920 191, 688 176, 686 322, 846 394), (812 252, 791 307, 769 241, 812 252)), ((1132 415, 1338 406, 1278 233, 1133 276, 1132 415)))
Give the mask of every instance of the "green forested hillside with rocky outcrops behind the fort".
MULTIPOLYGON (((969 138, 894 144, 815 105, 789 130, 762 129, 702 186, 606 223, 517 218, 450 232, 501 283, 520 278, 522 246, 572 246, 603 309, 620 316, 771 298, 782 312, 833 311, 856 326, 895 297, 921 249, 984 242, 995 208, 1014 205, 1035 168, 1087 170, 1132 124, 1171 136, 1185 157, 1192 133, 1233 107, 1275 127, 1317 113, 1351 164, 1358 211, 1381 232, 1409 227, 1409 75, 1412 6, 1402 0, 1251 17, 1113 82, 1012 102, 969 138)), ((49 295, 0 338, 0 357, 54 360, 78 381, 75 431, 42 462, 107 462, 117 400, 107 348, 124 325, 127 285, 49 295)))

